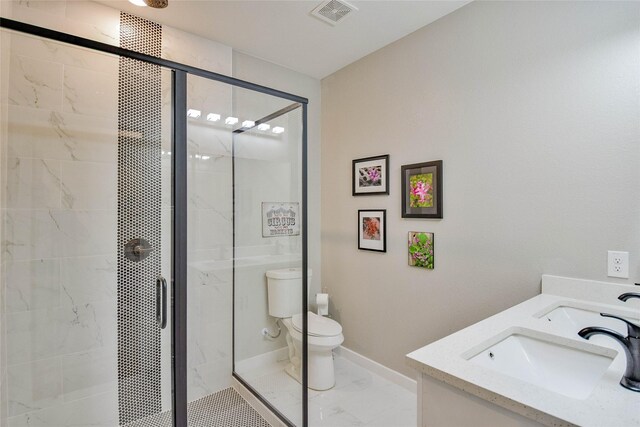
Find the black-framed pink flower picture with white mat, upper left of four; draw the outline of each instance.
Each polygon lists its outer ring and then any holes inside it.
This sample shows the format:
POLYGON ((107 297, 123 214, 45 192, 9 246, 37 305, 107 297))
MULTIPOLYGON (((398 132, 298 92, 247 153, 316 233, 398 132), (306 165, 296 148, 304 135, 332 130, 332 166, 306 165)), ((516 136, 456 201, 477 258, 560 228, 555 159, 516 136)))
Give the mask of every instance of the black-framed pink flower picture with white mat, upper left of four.
POLYGON ((389 155, 354 160, 351 179, 354 196, 389 194, 389 155))

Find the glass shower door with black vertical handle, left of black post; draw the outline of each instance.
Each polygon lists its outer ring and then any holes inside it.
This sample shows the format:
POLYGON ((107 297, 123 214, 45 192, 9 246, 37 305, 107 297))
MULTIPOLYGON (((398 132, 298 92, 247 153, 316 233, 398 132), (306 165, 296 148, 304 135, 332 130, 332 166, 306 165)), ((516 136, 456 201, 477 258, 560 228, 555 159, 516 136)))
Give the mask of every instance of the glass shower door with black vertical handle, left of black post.
POLYGON ((0 42, 0 423, 170 422, 170 72, 0 42))

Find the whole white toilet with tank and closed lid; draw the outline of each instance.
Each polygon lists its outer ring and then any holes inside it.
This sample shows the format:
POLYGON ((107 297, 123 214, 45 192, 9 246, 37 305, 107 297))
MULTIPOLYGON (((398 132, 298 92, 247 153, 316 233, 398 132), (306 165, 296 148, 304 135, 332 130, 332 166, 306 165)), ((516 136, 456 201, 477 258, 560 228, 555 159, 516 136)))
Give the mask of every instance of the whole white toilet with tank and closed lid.
MULTIPOLYGON (((311 282, 311 270, 309 280, 311 282)), ((282 319, 287 328, 289 364, 285 371, 302 383, 302 269, 285 268, 267 271, 269 314, 282 319)), ((328 390, 335 385, 332 350, 344 341, 342 326, 335 320, 307 313, 308 385, 314 390, 328 390)))

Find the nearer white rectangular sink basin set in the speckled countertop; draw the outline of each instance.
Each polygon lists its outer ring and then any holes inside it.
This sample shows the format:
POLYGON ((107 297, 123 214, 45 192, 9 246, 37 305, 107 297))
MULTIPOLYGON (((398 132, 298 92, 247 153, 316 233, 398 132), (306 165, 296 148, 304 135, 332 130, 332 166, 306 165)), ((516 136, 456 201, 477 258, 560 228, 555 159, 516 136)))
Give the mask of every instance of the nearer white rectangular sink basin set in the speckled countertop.
POLYGON ((569 347, 524 331, 511 333, 468 360, 549 391, 586 399, 616 355, 611 350, 599 354, 584 346, 569 347))

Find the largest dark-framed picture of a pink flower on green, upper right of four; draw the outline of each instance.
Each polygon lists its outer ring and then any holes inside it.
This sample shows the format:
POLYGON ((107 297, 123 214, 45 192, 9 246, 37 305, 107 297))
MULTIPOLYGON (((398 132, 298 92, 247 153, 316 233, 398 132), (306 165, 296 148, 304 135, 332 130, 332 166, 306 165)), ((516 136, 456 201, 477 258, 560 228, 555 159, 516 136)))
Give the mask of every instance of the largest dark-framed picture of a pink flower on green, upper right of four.
POLYGON ((442 218, 442 160, 401 169, 402 217, 442 218))

